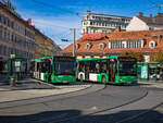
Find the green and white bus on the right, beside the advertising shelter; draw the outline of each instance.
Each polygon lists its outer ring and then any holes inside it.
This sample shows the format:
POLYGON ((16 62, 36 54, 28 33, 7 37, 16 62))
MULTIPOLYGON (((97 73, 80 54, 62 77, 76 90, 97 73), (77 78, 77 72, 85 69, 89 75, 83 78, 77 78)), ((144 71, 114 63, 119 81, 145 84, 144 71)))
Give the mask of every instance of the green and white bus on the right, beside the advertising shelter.
POLYGON ((77 60, 77 78, 104 84, 137 83, 137 60, 131 57, 111 56, 77 60))

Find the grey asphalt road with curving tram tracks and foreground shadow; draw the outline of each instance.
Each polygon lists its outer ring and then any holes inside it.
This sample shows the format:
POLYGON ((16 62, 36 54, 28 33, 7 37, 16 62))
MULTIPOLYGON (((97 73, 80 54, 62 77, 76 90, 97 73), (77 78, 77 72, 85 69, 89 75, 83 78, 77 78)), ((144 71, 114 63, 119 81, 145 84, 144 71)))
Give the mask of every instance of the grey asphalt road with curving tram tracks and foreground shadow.
POLYGON ((0 103, 0 123, 163 123, 162 90, 93 84, 67 95, 0 103))

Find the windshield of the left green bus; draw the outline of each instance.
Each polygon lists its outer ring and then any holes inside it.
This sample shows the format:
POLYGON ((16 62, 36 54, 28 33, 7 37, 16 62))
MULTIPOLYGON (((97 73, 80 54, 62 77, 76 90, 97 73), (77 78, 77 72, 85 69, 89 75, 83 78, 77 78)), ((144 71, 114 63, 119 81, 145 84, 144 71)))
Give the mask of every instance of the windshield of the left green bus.
POLYGON ((74 61, 57 61, 54 67, 57 75, 75 75, 74 61))

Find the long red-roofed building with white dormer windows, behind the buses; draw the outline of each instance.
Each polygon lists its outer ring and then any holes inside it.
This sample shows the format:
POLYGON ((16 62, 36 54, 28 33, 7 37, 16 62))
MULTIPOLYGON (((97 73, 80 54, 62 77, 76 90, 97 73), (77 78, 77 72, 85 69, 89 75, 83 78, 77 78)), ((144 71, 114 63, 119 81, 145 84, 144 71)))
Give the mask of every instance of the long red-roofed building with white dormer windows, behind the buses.
MULTIPOLYGON (((61 52, 72 56, 73 45, 61 52)), ((163 51, 163 30, 114 32, 109 34, 85 34, 76 41, 76 57, 99 58, 122 56, 123 52, 141 52, 149 61, 150 53, 163 51)))

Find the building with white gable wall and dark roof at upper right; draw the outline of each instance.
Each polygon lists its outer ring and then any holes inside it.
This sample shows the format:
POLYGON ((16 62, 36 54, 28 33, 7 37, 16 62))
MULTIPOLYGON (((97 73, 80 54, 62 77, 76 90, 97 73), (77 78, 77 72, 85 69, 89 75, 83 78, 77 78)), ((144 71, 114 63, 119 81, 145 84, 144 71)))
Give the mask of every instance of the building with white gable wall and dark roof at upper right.
POLYGON ((131 19, 126 27, 127 32, 149 29, 163 29, 163 13, 158 13, 155 16, 152 16, 152 14, 143 16, 143 13, 139 13, 131 19))

